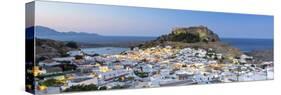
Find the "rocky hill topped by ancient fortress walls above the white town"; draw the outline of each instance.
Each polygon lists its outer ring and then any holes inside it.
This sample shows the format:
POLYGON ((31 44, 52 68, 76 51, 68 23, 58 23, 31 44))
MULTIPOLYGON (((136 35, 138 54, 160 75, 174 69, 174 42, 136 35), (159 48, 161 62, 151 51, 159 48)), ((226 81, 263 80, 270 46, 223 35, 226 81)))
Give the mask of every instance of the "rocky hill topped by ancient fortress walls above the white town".
POLYGON ((174 28, 171 33, 140 44, 138 47, 148 48, 167 45, 176 48, 213 48, 227 56, 239 56, 242 54, 239 49, 220 42, 219 36, 205 26, 174 28))

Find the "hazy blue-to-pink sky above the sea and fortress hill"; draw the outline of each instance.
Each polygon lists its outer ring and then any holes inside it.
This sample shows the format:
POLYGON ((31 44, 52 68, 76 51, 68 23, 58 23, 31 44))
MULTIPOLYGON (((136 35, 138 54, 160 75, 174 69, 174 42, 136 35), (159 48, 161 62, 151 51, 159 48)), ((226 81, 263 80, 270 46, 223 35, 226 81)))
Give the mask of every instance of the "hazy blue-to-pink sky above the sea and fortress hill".
POLYGON ((159 36, 204 25, 224 38, 273 38, 273 16, 37 1, 35 25, 61 32, 159 36))

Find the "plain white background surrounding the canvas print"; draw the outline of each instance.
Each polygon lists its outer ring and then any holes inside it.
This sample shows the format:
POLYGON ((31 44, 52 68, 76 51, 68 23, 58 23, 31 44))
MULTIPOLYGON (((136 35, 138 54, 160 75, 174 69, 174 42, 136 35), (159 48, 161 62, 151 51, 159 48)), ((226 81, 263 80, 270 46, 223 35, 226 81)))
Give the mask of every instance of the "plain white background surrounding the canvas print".
MULTIPOLYGON (((31 0, 1 0, 0 5, 0 93, 29 95, 24 92, 25 6, 31 0)), ((280 16, 279 0, 53 0, 97 4, 129 5, 218 12, 274 15, 275 80, 149 89, 83 92, 69 95, 274 95, 280 93, 280 16), (279 26, 279 27, 277 27, 279 26), (279 37, 278 37, 279 36, 279 37), (279 52, 279 53, 276 53, 279 52)))

